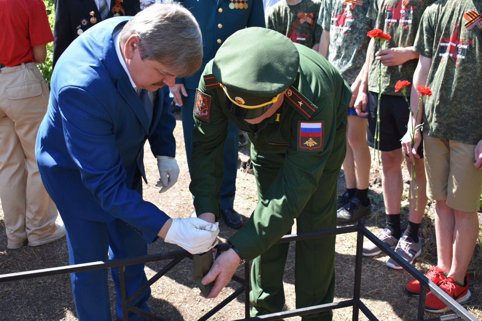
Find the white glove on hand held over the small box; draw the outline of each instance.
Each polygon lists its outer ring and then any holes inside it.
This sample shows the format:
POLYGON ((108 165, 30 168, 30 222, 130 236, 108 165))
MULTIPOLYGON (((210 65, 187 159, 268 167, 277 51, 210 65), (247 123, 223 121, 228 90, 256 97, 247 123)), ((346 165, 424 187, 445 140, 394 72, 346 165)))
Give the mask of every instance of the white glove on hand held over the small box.
POLYGON ((218 222, 201 218, 173 218, 164 242, 177 244, 192 254, 204 253, 216 246, 218 222))

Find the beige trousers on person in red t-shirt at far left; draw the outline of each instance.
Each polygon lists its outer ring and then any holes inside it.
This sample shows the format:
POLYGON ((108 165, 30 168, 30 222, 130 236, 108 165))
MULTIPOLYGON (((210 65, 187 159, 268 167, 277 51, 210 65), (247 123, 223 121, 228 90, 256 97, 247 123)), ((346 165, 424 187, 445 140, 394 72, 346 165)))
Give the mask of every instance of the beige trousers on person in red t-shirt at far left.
POLYGON ((8 244, 52 234, 58 212, 42 181, 35 141, 48 83, 33 63, 0 68, 0 200, 8 244))

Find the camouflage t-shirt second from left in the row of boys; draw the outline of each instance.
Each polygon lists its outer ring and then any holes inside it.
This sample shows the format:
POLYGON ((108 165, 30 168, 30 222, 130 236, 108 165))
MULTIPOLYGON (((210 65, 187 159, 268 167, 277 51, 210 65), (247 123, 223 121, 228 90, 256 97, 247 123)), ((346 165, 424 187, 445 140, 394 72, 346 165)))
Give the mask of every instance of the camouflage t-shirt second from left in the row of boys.
MULTIPOLYGON (((372 20, 366 17, 370 1, 362 5, 347 5, 345 0, 323 0, 318 24, 330 31, 328 61, 352 84, 365 63, 372 30, 372 20)), ((348 2, 350 3, 350 2, 348 2)))

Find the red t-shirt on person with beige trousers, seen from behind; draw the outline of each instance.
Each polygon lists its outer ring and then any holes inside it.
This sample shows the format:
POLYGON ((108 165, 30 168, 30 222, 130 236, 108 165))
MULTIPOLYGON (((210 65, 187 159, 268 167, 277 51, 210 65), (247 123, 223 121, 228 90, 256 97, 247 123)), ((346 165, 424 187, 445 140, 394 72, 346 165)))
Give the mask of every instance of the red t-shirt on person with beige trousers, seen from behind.
POLYGON ((0 0, 0 64, 33 61, 32 47, 54 41, 42 0, 0 0))

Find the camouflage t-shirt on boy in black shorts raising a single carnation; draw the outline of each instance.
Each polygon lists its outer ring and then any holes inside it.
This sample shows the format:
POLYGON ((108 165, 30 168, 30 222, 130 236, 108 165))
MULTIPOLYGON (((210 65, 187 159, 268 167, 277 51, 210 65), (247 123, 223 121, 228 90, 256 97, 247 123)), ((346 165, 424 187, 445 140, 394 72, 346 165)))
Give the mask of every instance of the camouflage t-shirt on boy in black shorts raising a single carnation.
MULTIPOLYGON (((428 7, 435 0, 374 0, 370 3, 367 17, 375 20, 375 28, 382 29, 392 38, 385 41, 382 49, 392 47, 411 47, 414 45, 420 19, 428 7)), ((368 90, 378 92, 378 61, 372 51, 370 69, 368 73, 368 90)), ((412 82, 418 60, 412 59, 397 66, 382 64, 382 94, 402 96, 402 91, 395 92, 398 80, 412 82)), ((410 96, 410 86, 407 86, 407 96, 410 96)))

